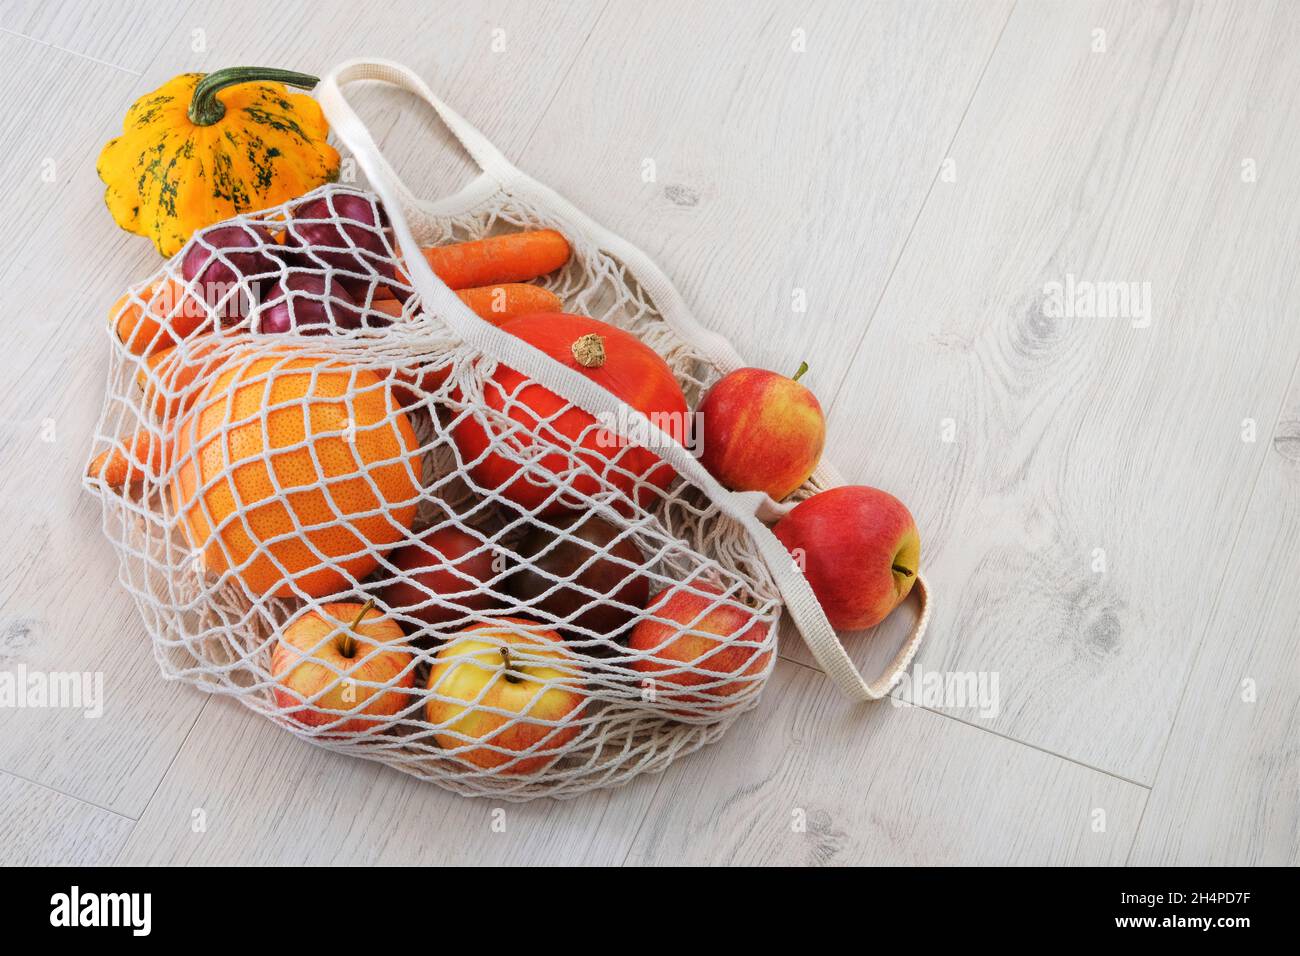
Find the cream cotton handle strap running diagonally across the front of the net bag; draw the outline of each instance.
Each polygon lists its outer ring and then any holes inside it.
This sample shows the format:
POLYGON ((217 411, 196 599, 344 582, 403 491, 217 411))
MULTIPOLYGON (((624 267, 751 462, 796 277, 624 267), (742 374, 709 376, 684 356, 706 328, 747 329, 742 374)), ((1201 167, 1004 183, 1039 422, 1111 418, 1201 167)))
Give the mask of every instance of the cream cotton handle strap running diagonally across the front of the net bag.
MULTIPOLYGON (((439 118, 447 125, 447 129, 460 140, 484 172, 495 178, 500 185, 506 186, 508 183, 517 187, 526 187, 530 191, 546 195, 547 199, 554 196, 554 194, 550 194, 549 190, 545 190, 540 183, 534 183, 507 163, 478 130, 437 99, 428 86, 406 66, 382 60, 350 60, 326 74, 316 87, 316 98, 334 134, 351 150, 363 172, 365 172, 370 187, 384 202, 394 235, 398 239, 398 247, 406 258, 411 285, 420 294, 424 307, 439 316, 468 345, 480 349, 516 372, 545 385, 589 415, 594 415, 608 423, 625 423, 628 431, 649 436, 650 447, 659 458, 667 462, 688 481, 703 489, 724 514, 749 531, 759 549, 759 554, 776 581, 777 589, 781 592, 781 597, 785 601, 785 610, 789 613, 796 628, 803 636, 809 650, 826 671, 827 676, 853 700, 879 700, 884 697, 911 662, 930 622, 930 592, 922 575, 916 574, 914 585, 920 598, 920 609, 911 633, 884 672, 875 680, 867 682, 849 658, 835 628, 827 620, 826 611, 822 610, 822 605, 818 602, 812 588, 794 563, 794 559, 771 529, 759 520, 758 515, 760 512, 770 511, 770 499, 767 496, 758 492, 744 494, 728 492, 705 471, 694 455, 671 436, 662 432, 640 411, 632 408, 632 406, 620 401, 611 392, 597 385, 590 378, 556 362, 546 352, 485 321, 471 311, 434 274, 429 263, 420 252, 420 245, 416 242, 407 224, 406 209, 413 202, 413 196, 411 196, 391 166, 389 166, 374 144, 365 124, 356 116, 341 88, 342 83, 358 79, 378 79, 422 96, 433 105, 439 118)), ((592 232, 602 239, 610 235, 602 228, 586 220, 585 216, 571 216, 569 213, 576 212, 576 209, 568 203, 564 203, 563 212, 569 219, 578 219, 584 228, 590 226, 592 232)), ((636 252, 636 255, 627 256, 632 260, 627 264, 638 281, 641 281, 638 269, 641 263, 637 260, 646 260, 646 256, 640 250, 634 250, 634 247, 623 241, 619 242, 619 246, 618 252, 621 252, 624 248, 630 248, 636 252)), ((658 273, 656 269, 654 272, 658 273)), ((662 278, 662 273, 658 274, 662 278)), ((666 280, 651 284, 651 286, 660 287, 664 285, 667 285, 666 280)))

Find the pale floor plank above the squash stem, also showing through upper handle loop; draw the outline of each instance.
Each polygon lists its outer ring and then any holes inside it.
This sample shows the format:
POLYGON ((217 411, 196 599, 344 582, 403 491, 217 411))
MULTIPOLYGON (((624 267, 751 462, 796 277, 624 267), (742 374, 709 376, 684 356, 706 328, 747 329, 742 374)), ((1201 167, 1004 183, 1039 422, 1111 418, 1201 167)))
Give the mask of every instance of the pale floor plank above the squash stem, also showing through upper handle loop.
MULTIPOLYGON (((251 5, 230 16, 229 4, 205 0, 190 14, 204 30, 204 49, 192 49, 187 34, 174 38, 159 51, 146 79, 157 85, 185 70, 235 62, 321 74, 352 57, 396 60, 512 153, 528 142, 604 5, 493 0, 467 10, 454 0, 378 7, 299 0, 251 5)), ((477 174, 433 111, 410 94, 360 85, 348 92, 416 195, 451 194, 477 174)))

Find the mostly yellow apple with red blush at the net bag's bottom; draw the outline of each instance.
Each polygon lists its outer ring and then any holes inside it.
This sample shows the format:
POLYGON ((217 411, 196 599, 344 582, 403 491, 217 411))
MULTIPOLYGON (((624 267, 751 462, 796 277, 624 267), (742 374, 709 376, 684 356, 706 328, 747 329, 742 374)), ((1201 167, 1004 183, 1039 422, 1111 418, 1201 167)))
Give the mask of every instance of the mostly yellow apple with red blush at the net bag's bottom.
POLYGON ((580 665, 554 631, 520 633, 508 626, 536 624, 498 622, 462 631, 438 650, 428 683, 436 696, 425 702, 425 718, 441 726, 433 736, 443 749, 486 744, 455 757, 503 774, 532 774, 559 758, 581 730, 580 665))

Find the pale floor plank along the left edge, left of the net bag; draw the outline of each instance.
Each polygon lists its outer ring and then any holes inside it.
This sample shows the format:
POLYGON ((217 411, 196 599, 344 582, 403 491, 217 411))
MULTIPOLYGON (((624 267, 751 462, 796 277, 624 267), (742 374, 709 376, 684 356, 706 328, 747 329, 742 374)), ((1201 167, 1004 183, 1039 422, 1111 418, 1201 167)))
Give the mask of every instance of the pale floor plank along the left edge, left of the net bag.
POLYGON ((104 316, 135 239, 103 211, 100 130, 138 79, 0 34, 0 669, 103 675, 103 717, 0 709, 0 769, 126 816, 143 810, 203 696, 159 679, 81 489, 104 389, 104 316), (51 172, 51 181, 43 178, 51 172))

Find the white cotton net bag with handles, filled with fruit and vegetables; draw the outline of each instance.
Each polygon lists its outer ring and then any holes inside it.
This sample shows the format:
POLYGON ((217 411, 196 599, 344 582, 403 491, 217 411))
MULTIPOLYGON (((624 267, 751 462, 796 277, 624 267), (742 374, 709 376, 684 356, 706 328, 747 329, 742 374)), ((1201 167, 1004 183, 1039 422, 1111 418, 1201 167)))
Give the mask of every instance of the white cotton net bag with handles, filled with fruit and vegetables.
MULTIPOLYGON (((763 523, 789 503, 723 489, 662 423, 474 315, 420 248, 560 232, 572 258, 546 284, 564 310, 636 336, 694 406, 742 362, 654 264, 515 169, 403 66, 346 62, 317 98, 374 193, 324 186, 239 216, 226 224, 238 242, 205 230, 133 290, 125 310, 152 310, 173 329, 183 321, 172 360, 187 378, 159 386, 161 363, 113 339, 95 453, 130 453, 135 481, 87 485, 162 674, 233 695, 315 744, 506 800, 618 786, 716 740, 757 704, 783 607, 846 695, 884 696, 928 620, 919 574, 918 620, 868 683, 763 523), (482 174, 436 204, 412 196, 343 96, 360 79, 422 96, 482 174), (322 245, 322 230, 337 238, 322 245), (187 278, 186 255, 230 273, 191 268, 187 278), (217 273, 234 281, 214 295, 203 280, 217 273), (292 286, 294 328, 266 334, 268 290, 281 284, 292 286), (381 286, 404 299, 395 320, 378 304, 381 286), (321 310, 330 323, 308 325, 321 310), (523 381, 503 385, 510 371, 523 381), (541 388, 556 397, 545 412, 528 398, 541 388), (618 442, 593 444, 611 432, 618 442), (521 477, 486 480, 488 458, 521 477), (584 533, 597 525, 608 533, 584 533), (463 591, 420 588, 394 561, 430 535, 468 542, 467 557, 434 549, 430 561, 463 591), (581 567, 556 571, 552 548, 581 567), (488 555, 490 572, 464 571, 488 555), (580 575, 602 562, 638 596, 586 587, 580 575), (526 594, 516 587, 524 574, 526 594), (395 585, 410 585, 402 600, 395 585), (568 613, 549 604, 558 594, 568 613), (372 635, 367 618, 352 656, 330 662, 324 652, 352 615, 329 605, 365 600, 404 636, 372 635), (627 623, 593 628, 594 610, 627 623), (312 615, 337 623, 287 640, 312 615), (286 683, 295 665, 316 667, 318 680, 286 683), (507 702, 507 685, 523 688, 525 706, 507 702)), ((793 499, 836 484, 822 466, 793 499)))

